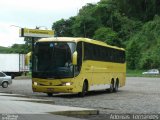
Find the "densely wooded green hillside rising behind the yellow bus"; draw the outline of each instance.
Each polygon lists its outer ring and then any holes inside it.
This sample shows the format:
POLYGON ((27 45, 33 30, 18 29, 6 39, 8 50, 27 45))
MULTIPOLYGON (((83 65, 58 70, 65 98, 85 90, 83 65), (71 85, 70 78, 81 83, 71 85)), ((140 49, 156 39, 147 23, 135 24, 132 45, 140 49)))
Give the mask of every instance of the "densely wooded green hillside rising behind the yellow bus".
POLYGON ((160 68, 160 1, 101 0, 53 23, 57 36, 88 37, 126 48, 128 69, 160 68))

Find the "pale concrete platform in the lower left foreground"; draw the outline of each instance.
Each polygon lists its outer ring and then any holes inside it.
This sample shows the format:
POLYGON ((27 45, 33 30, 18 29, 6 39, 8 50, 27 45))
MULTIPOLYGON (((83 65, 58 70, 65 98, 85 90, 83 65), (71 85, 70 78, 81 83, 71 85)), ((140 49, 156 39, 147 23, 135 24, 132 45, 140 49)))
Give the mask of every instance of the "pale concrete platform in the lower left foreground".
POLYGON ((64 115, 97 115, 97 112, 94 109, 55 105, 50 100, 0 93, 0 120, 82 120, 64 115))

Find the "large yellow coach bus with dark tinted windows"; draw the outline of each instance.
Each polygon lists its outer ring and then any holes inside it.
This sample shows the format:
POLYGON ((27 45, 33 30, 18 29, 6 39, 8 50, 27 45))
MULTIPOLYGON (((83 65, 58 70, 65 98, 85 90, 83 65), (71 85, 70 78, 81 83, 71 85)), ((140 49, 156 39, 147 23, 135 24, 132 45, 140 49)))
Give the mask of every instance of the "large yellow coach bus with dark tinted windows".
POLYGON ((125 85, 125 50, 88 38, 42 38, 33 47, 34 92, 78 93, 125 85))

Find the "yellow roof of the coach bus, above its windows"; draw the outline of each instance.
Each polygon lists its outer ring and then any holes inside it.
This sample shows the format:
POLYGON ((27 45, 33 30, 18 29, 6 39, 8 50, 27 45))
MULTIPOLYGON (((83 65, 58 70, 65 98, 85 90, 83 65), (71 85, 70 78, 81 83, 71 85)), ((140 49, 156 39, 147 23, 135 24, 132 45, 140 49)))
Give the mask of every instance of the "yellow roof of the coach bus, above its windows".
POLYGON ((52 42, 52 41, 62 41, 62 42, 79 42, 79 41, 83 41, 83 42, 87 42, 87 43, 92 43, 92 44, 96 44, 96 45, 100 45, 100 46, 105 46, 105 47, 110 47, 110 48, 114 48, 114 49, 119 49, 119 50, 124 50, 123 48, 119 48, 117 46, 111 46, 106 44, 105 42, 102 41, 98 41, 98 40, 93 40, 93 39, 89 39, 89 38, 78 38, 78 37, 52 37, 52 38, 41 38, 38 40, 38 42, 52 42))

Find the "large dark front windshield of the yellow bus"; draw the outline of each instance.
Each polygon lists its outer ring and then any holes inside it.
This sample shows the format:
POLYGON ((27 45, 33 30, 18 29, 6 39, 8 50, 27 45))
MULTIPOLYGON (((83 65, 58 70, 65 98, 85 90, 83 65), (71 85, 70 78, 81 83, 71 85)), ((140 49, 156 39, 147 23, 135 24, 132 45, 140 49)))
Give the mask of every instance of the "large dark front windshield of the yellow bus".
POLYGON ((34 46, 33 71, 35 78, 67 78, 74 76, 73 42, 37 42, 34 46))

